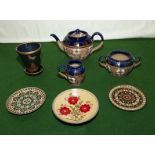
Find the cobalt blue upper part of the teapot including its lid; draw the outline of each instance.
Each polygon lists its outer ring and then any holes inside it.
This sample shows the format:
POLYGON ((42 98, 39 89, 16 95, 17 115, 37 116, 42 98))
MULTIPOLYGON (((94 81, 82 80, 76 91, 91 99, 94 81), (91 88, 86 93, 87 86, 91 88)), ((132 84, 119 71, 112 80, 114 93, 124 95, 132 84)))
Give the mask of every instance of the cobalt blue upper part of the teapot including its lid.
POLYGON ((63 43, 67 46, 86 46, 92 43, 91 36, 87 32, 76 29, 64 38, 63 43))

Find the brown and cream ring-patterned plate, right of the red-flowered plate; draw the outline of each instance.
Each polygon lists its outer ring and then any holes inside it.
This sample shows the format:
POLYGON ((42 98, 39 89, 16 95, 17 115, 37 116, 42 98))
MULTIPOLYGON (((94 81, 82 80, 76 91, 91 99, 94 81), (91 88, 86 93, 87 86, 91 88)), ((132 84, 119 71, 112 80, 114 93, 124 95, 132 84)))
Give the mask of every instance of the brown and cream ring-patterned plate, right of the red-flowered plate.
POLYGON ((130 85, 114 87, 109 93, 110 101, 118 108, 135 111, 146 104, 146 97, 139 89, 130 85))

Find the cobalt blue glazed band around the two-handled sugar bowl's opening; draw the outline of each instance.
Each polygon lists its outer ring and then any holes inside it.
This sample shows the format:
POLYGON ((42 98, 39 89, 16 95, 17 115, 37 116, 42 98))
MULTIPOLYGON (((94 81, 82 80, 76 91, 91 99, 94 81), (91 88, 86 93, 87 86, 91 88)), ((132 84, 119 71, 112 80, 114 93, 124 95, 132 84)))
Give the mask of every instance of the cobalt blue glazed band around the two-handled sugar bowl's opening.
POLYGON ((110 53, 110 55, 108 55, 106 57, 106 61, 108 64, 112 65, 112 66, 117 66, 117 67, 128 67, 128 66, 131 66, 133 65, 133 63, 135 62, 135 58, 131 56, 130 53, 126 52, 126 51, 120 51, 120 50, 117 50, 117 51, 113 51, 110 53), (112 55, 114 54, 124 54, 124 55, 127 55, 129 57, 128 60, 116 60, 116 59, 113 59, 112 58, 112 55))

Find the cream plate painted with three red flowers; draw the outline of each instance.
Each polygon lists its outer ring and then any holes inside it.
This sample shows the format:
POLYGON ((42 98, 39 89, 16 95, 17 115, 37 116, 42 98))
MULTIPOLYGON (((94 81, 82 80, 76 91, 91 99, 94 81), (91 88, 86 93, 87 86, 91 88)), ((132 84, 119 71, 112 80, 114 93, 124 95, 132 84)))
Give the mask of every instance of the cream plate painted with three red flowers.
POLYGON ((96 96, 88 90, 69 89, 56 96, 52 110, 61 121, 80 124, 95 117, 99 103, 96 96))

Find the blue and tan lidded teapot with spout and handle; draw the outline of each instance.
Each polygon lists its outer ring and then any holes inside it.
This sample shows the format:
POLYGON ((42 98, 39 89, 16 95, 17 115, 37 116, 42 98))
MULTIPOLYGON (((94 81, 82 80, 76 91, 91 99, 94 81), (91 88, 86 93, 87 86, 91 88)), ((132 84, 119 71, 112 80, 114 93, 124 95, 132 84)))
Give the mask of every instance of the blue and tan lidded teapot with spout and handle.
POLYGON ((64 51, 73 60, 83 60, 88 55, 92 54, 96 50, 103 46, 104 38, 99 32, 95 32, 90 36, 86 31, 76 29, 69 32, 63 41, 60 41, 55 34, 51 34, 58 43, 59 48, 64 51), (93 46, 94 37, 98 35, 101 38, 101 42, 96 47, 93 46))

